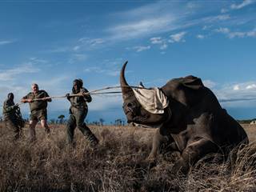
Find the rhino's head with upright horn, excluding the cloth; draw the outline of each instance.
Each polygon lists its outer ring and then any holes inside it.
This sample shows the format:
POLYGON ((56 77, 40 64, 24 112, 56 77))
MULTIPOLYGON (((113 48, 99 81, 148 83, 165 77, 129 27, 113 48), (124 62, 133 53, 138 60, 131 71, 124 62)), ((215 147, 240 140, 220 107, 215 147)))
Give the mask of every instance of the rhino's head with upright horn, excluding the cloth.
POLYGON ((126 114, 127 122, 135 122, 142 125, 156 125, 166 119, 166 114, 151 114, 145 110, 138 102, 134 91, 128 85, 125 78, 125 69, 128 62, 125 62, 120 72, 120 84, 122 87, 123 110, 126 114))

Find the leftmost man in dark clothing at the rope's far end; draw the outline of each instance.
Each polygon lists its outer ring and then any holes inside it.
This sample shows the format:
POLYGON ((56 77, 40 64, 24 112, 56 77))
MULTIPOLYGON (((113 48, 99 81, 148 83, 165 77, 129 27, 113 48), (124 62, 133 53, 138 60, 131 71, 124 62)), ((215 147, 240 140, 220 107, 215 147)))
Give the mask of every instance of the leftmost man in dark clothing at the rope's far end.
POLYGON ((14 104, 14 94, 8 94, 8 98, 3 103, 2 114, 6 121, 6 128, 14 131, 14 140, 20 138, 24 121, 18 105, 14 104))

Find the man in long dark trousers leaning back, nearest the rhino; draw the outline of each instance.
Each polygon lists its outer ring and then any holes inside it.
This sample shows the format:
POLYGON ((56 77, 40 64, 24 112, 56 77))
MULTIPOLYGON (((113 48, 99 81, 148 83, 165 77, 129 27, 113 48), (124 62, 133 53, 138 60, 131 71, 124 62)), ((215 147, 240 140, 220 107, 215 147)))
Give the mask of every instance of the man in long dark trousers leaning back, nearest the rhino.
POLYGON ((86 88, 82 87, 82 79, 75 79, 73 82, 72 94, 81 94, 81 96, 70 96, 66 94, 66 98, 70 101, 70 119, 67 123, 67 138, 70 144, 74 144, 74 129, 78 127, 82 131, 82 134, 86 136, 90 142, 90 146, 94 147, 98 145, 98 138, 90 131, 89 127, 84 122, 88 106, 86 102, 91 102, 90 94, 86 88))

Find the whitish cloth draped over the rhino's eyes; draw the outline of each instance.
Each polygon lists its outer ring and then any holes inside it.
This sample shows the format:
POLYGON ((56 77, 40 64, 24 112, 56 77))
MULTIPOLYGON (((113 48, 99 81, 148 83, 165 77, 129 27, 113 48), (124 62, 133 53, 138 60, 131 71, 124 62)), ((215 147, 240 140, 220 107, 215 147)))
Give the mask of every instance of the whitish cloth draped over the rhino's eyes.
POLYGON ((169 105, 168 98, 158 87, 152 89, 133 88, 134 95, 142 107, 151 114, 163 114, 169 105))

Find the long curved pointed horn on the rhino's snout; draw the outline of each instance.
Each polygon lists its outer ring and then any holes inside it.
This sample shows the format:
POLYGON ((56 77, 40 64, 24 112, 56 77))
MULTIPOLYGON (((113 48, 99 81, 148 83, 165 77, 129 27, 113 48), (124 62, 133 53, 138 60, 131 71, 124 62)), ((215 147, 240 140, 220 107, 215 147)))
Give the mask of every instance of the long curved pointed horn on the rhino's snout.
POLYGON ((130 88, 128 83, 126 82, 126 78, 125 78, 125 70, 126 70, 127 63, 128 63, 128 61, 126 61, 123 64, 122 70, 120 72, 120 84, 121 84, 121 88, 122 88, 122 98, 123 98, 124 102, 127 100, 127 98, 134 96, 134 92, 130 88))

